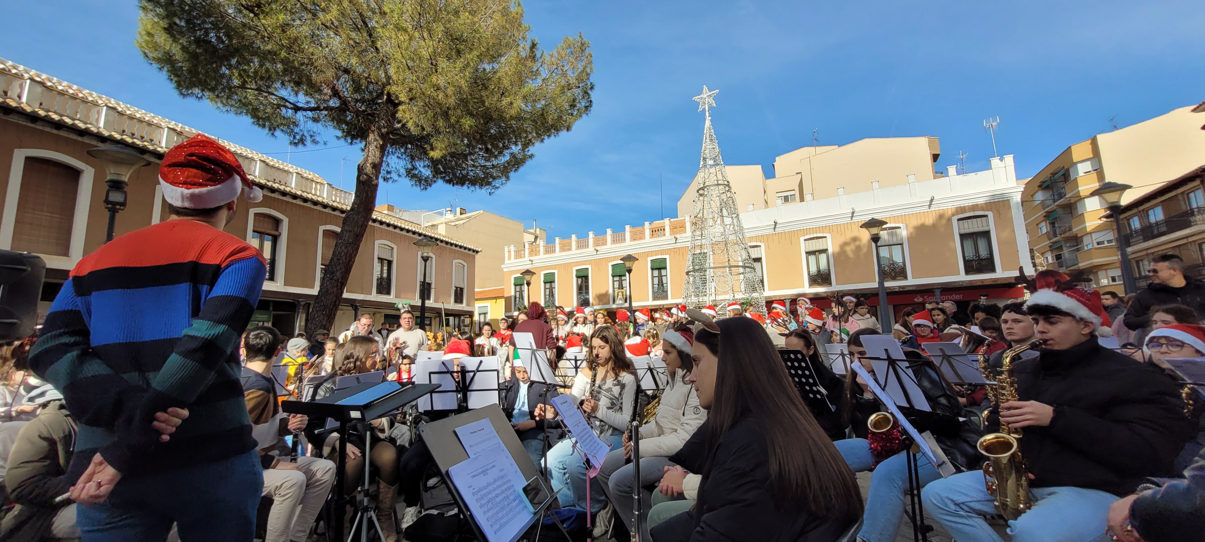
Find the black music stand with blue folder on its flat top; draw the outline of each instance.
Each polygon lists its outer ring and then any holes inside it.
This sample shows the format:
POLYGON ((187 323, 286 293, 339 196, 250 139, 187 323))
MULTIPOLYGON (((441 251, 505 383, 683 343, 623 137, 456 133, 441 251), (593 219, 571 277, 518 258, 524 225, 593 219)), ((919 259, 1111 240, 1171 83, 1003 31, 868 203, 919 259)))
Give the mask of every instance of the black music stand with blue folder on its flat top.
MULTIPOLYGON (((343 490, 345 472, 347 470, 347 424, 349 422, 368 422, 383 418, 396 412, 401 407, 417 401, 423 395, 436 390, 440 384, 413 384, 398 382, 364 383, 337 390, 317 401, 282 401, 281 411, 289 414, 305 414, 315 418, 331 418, 339 422, 339 455, 336 458, 335 471, 335 502, 342 507, 347 505, 347 495, 343 490), (389 384, 393 384, 389 387, 389 384), (374 390, 375 388, 378 388, 374 390), (351 402, 348 401, 351 400, 351 402), (360 402, 363 401, 363 402, 360 402)), ((369 450, 364 450, 365 454, 369 450)), ((364 471, 369 465, 365 461, 364 471)), ((337 514, 336 514, 337 516, 337 514)), ((328 532, 334 535, 335 541, 343 540, 343 520, 341 517, 334 518, 328 525, 328 532)))

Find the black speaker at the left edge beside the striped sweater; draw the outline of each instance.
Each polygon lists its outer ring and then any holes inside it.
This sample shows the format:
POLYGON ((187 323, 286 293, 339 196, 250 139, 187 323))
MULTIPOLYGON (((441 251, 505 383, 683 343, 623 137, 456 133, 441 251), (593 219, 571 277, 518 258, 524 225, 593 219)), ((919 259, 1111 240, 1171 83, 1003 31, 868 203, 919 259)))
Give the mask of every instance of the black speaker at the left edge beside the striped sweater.
POLYGON ((0 342, 34 332, 46 261, 28 252, 0 251, 0 342))

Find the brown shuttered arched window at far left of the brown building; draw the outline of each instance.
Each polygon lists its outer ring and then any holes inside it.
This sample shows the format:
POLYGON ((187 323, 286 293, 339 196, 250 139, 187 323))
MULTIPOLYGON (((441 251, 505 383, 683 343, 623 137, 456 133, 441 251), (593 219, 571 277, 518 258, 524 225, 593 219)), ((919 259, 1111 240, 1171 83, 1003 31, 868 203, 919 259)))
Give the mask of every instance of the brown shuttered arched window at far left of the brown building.
POLYGON ((80 170, 45 158, 27 158, 17 196, 12 249, 71 255, 80 170))

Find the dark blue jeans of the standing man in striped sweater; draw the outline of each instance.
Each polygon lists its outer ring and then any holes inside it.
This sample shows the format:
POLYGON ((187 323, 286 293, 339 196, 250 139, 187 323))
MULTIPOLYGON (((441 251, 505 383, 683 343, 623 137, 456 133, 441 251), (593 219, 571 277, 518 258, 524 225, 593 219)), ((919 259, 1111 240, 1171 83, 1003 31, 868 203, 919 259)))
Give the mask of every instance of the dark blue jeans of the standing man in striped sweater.
POLYGON ((163 541, 178 525, 181 542, 251 542, 264 489, 259 454, 122 478, 105 502, 78 506, 83 542, 163 541))

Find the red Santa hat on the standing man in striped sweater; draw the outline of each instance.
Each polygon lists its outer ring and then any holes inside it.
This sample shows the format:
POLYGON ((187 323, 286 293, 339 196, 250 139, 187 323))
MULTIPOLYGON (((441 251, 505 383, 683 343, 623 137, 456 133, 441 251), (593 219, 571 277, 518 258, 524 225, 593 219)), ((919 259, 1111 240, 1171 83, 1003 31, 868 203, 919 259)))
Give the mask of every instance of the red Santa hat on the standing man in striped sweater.
POLYGON ((182 208, 212 208, 239 199, 264 199, 264 192, 251 183, 242 164, 217 141, 196 134, 170 148, 159 165, 163 199, 182 208))

